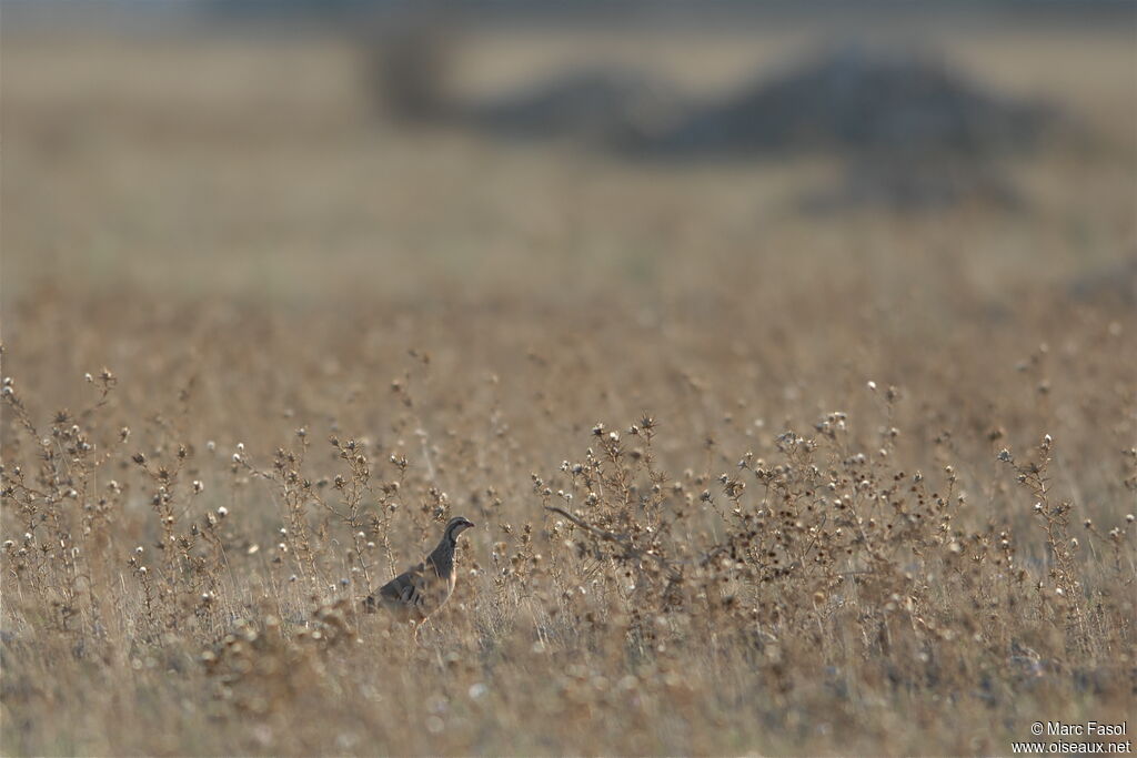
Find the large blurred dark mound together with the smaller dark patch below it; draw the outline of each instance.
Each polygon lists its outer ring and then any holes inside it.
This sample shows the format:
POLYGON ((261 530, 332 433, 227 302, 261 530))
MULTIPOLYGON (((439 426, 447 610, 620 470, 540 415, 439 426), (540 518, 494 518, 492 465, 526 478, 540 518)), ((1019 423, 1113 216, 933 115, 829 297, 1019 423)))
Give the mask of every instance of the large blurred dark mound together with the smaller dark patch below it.
POLYGON ((1057 120, 1052 107, 989 92, 941 60, 845 47, 616 149, 657 160, 835 156, 843 175, 800 199, 811 213, 1013 210, 1024 202, 1002 159, 1038 148, 1057 120))

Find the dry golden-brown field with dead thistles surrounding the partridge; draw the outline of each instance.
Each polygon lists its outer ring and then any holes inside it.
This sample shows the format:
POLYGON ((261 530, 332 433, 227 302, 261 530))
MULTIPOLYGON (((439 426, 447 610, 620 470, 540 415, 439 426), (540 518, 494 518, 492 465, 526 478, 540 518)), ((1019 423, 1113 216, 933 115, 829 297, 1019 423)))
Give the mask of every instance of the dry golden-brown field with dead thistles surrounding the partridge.
POLYGON ((1131 730, 1132 42, 1062 43, 961 48, 1098 127, 1028 208, 816 219, 376 126, 334 45, 6 40, 0 750, 1131 730), (357 601, 450 515, 414 645, 357 601))

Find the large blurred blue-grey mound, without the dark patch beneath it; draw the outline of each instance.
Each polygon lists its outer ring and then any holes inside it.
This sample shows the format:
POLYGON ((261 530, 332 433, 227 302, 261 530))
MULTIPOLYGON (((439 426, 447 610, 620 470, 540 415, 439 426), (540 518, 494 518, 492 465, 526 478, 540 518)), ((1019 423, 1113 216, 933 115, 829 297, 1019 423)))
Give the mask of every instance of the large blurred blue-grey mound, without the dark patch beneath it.
POLYGON ((648 156, 905 151, 980 156, 1035 147, 1051 108, 986 92, 946 64, 849 47, 621 145, 648 156))

